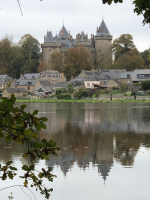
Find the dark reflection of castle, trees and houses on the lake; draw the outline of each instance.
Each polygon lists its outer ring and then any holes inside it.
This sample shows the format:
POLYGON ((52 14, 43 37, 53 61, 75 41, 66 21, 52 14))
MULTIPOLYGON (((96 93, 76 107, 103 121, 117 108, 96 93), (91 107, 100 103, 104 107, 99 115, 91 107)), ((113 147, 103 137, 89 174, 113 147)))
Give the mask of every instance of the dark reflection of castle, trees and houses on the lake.
MULTIPOLYGON (((115 163, 134 167, 141 146, 150 146, 149 103, 28 104, 28 112, 35 109, 39 116, 48 118, 47 130, 40 132, 40 139, 52 139, 61 148, 46 164, 60 167, 64 176, 74 166, 86 171, 92 164, 105 182, 115 163)), ((0 159, 20 159, 23 163, 25 149, 2 141, 0 159)))

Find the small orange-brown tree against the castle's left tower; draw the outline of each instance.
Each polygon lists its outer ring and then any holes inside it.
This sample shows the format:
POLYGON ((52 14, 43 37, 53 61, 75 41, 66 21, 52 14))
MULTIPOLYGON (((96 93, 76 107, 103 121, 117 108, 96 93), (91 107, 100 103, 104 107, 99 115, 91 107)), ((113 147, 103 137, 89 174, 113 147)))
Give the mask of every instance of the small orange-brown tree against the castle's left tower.
POLYGON ((54 51, 50 56, 50 68, 58 72, 63 72, 62 55, 58 51, 54 51))

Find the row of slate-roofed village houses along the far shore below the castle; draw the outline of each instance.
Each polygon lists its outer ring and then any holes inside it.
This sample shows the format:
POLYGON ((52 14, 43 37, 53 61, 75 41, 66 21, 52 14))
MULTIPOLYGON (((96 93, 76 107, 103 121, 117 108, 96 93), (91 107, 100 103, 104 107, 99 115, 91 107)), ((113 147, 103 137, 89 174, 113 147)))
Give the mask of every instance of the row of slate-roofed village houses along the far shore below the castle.
POLYGON ((75 93, 84 88, 89 94, 92 94, 86 97, 92 98, 101 94, 103 96, 104 94, 113 94, 112 92, 115 92, 114 94, 131 94, 138 91, 143 81, 149 79, 150 69, 136 69, 134 71, 103 69, 100 72, 82 70, 76 78, 72 78, 70 81, 66 81, 63 73, 47 70, 41 73, 21 74, 17 80, 12 80, 8 75, 1 75, 0 89, 3 90, 2 96, 7 98, 14 94, 19 99, 41 99, 56 98, 58 90, 61 90, 62 93, 75 93), (12 83, 10 87, 7 87, 7 83, 10 81, 12 83), (69 86, 73 88, 71 92, 67 90, 69 86), (121 88, 124 89, 121 91, 121 88), (95 94, 98 95, 95 96, 95 94))

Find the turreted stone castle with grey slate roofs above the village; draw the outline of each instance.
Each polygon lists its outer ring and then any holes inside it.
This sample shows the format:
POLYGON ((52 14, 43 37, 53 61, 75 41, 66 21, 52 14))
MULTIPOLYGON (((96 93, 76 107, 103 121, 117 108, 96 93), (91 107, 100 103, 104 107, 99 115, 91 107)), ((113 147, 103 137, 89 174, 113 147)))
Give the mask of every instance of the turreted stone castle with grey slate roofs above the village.
POLYGON ((93 65, 97 65, 98 68, 107 68, 112 63, 112 51, 111 51, 112 35, 102 20, 101 25, 97 27, 96 35, 91 34, 91 38, 84 32, 78 33, 74 39, 63 25, 59 34, 53 37, 51 31, 47 31, 44 36, 44 43, 42 47, 42 62, 45 62, 49 66, 51 54, 55 51, 64 54, 69 48, 76 48, 83 46, 88 50, 93 65))

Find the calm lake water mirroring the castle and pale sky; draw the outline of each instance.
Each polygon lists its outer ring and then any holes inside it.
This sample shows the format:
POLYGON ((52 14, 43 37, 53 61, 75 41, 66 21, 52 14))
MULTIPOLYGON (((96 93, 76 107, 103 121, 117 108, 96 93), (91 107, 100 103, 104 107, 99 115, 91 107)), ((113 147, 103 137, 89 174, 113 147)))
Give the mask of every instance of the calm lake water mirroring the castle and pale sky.
MULTIPOLYGON (((37 161, 37 168, 53 167, 57 175, 51 200, 149 200, 150 103, 28 103, 27 111, 39 110, 47 117, 47 130, 40 139, 57 142, 61 151, 49 162, 37 161)), ((0 162, 13 160, 20 167, 24 148, 0 143, 0 162)), ((21 170, 19 171, 21 172, 21 170)), ((18 185, 19 178, 2 182, 18 185)), ((44 200, 31 189, 37 200, 44 200)), ((0 192, 7 200, 35 199, 27 189, 10 188, 0 192)))

